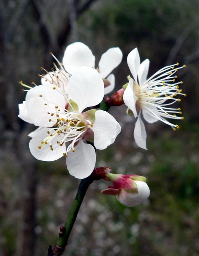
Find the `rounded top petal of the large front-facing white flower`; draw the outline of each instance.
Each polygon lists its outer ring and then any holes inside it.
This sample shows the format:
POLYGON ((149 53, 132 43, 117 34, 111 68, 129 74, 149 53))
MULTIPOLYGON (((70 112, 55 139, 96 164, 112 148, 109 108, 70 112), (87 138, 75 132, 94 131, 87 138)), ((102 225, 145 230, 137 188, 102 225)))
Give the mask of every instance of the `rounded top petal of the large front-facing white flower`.
POLYGON ((104 96, 104 84, 98 71, 81 67, 71 76, 67 87, 68 96, 76 102, 79 112, 87 107, 96 106, 104 96))

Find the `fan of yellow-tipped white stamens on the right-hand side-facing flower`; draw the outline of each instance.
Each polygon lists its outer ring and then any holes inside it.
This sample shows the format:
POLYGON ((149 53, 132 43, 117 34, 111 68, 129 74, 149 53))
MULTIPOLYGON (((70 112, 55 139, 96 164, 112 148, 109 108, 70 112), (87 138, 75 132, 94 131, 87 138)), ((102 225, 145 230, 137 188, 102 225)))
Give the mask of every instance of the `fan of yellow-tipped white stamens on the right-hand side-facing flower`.
POLYGON ((162 68, 140 86, 134 84, 134 91, 137 94, 136 96, 140 108, 147 110, 151 116, 154 116, 158 120, 169 124, 174 130, 176 130, 176 128, 179 129, 179 125, 172 124, 167 121, 165 117, 172 119, 184 118, 177 116, 177 114, 182 114, 180 108, 170 108, 168 106, 174 102, 181 101, 180 98, 175 98, 177 95, 186 96, 186 94, 183 94, 182 90, 179 89, 179 84, 183 82, 175 82, 177 78, 175 73, 186 65, 179 68, 175 66, 179 66, 179 63, 162 68))

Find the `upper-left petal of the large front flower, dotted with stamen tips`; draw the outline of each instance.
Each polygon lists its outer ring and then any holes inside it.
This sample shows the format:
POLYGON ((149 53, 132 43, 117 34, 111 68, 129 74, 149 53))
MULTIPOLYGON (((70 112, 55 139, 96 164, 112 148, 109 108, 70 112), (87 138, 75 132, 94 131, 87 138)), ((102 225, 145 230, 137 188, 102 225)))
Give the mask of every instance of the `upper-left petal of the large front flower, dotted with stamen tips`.
POLYGON ((66 100, 62 91, 53 84, 35 86, 26 94, 28 114, 36 126, 52 127, 57 119, 56 114, 64 111, 65 105, 66 100), (59 109, 60 112, 58 112, 59 109), (54 115, 51 116, 51 114, 54 115), (49 122, 49 119, 52 121, 49 122))

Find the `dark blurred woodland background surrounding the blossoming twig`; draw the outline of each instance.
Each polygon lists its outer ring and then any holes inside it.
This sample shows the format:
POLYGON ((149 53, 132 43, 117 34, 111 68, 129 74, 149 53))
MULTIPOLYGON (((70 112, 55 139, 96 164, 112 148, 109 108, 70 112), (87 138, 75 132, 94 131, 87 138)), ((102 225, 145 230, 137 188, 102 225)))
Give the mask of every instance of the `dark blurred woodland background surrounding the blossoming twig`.
POLYGON ((173 130, 147 124, 148 150, 133 140, 134 121, 125 106, 111 108, 123 130, 114 145, 98 151, 96 166, 147 178, 149 200, 127 208, 100 194, 93 183, 63 255, 199 255, 199 1, 198 0, 0 0, 0 255, 45 256, 54 245, 79 180, 64 159, 35 160, 27 134, 34 126, 18 118, 25 99, 19 84, 40 84, 40 67, 62 61, 66 46, 80 41, 96 56, 110 47, 123 52, 114 70, 116 89, 127 82, 127 54, 138 48, 150 59, 149 75, 165 65, 178 72, 187 94, 185 119, 173 130))

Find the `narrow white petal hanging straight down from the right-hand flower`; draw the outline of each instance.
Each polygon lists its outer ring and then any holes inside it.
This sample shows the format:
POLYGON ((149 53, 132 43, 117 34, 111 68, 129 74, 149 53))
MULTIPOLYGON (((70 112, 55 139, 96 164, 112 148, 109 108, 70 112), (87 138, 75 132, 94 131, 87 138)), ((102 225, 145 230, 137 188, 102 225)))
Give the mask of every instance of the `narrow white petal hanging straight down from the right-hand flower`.
POLYGON ((141 111, 140 111, 137 121, 135 123, 134 138, 135 138, 136 144, 140 148, 147 149, 146 148, 147 134, 146 134, 144 123, 141 120, 141 111))

